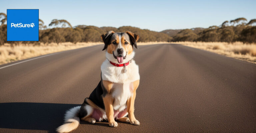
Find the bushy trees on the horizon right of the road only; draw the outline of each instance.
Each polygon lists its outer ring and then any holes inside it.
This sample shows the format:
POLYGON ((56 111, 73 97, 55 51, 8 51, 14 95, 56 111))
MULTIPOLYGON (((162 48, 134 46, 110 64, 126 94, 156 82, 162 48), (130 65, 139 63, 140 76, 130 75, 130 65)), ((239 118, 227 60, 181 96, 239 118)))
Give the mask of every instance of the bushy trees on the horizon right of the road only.
POLYGON ((184 29, 173 36, 172 41, 256 43, 256 19, 248 23, 245 18, 224 21, 220 26, 210 26, 201 31, 184 29))

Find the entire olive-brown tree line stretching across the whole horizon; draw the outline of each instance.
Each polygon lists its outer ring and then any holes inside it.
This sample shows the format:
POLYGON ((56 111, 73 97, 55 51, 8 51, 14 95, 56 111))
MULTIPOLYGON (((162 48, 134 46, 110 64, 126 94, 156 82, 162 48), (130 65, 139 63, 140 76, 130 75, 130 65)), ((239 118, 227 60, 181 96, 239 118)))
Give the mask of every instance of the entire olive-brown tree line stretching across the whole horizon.
MULTIPOLYGON (((61 42, 100 42, 100 35, 113 30, 115 32, 131 31, 140 35, 140 42, 150 41, 203 41, 203 42, 235 42, 256 43, 256 19, 246 23, 245 18, 238 18, 231 21, 225 21, 220 26, 210 26, 209 28, 193 28, 184 30, 165 30, 162 32, 150 31, 131 26, 115 27, 96 27, 87 25, 72 25, 64 20, 53 19, 47 26, 43 20, 39 19, 39 42, 28 41, 8 41, 12 45, 20 43, 39 45, 43 43, 61 43, 61 42), (51 28, 49 28, 51 27, 51 28)), ((6 14, 0 13, 0 45, 7 43, 7 25, 6 14)))

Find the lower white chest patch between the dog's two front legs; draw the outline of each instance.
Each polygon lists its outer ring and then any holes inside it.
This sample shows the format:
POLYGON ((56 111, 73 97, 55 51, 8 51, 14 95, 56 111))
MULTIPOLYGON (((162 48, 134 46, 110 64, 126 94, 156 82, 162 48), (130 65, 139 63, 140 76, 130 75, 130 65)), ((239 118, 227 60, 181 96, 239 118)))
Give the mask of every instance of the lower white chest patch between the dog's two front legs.
POLYGON ((127 107, 126 102, 132 96, 133 83, 114 83, 113 89, 113 109, 122 111, 127 107))

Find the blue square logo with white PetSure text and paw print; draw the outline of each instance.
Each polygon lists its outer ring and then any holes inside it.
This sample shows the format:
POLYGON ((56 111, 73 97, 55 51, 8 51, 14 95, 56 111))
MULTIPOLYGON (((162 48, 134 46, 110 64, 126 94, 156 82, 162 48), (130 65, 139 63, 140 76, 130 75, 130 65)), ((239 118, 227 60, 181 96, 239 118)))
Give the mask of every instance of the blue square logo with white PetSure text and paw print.
POLYGON ((39 9, 7 9, 7 41, 38 41, 39 9))

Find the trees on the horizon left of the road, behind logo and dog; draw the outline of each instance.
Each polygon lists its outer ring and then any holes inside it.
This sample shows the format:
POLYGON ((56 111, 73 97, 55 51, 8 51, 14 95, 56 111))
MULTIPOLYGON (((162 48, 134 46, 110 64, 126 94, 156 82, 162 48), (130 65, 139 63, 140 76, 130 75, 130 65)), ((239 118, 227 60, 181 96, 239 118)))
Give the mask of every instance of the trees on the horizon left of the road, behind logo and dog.
MULTIPOLYGON (((1 26, 0 26, 0 45, 7 43, 7 25, 4 24, 6 21, 6 15, 4 13, 0 14, 1 26)), ((149 41, 168 41, 170 42, 172 37, 165 33, 150 31, 147 29, 140 29, 131 26, 122 26, 119 28, 115 27, 96 27, 87 25, 78 25, 72 27, 72 25, 62 19, 53 19, 51 23, 47 26, 44 24, 43 20, 39 19, 39 42, 28 42, 28 41, 8 41, 12 45, 18 45, 20 43, 24 44, 35 44, 39 45, 44 43, 48 45, 49 43, 61 43, 61 42, 101 42, 100 36, 110 30, 115 32, 126 32, 131 31, 140 35, 140 42, 149 41), (51 28, 49 28, 51 27, 51 28)))

